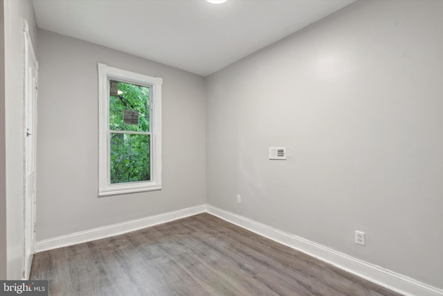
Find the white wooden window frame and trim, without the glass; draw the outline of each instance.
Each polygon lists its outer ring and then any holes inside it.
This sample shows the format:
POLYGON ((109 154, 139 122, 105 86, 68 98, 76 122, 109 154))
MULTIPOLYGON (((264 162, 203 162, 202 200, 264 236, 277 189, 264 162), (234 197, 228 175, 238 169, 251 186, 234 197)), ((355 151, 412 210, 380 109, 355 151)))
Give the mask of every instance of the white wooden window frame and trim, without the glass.
POLYGON ((163 79, 125 71, 98 63, 98 196, 161 189, 161 85, 163 79), (151 180, 111 184, 109 140, 109 80, 150 87, 151 180))

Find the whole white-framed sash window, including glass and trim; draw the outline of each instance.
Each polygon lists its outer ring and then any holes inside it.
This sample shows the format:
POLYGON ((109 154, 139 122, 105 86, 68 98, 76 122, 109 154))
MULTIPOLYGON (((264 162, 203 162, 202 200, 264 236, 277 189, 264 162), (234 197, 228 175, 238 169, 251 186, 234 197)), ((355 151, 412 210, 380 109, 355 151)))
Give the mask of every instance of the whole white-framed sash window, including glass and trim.
POLYGON ((163 80, 98 64, 98 195, 161 189, 163 80))

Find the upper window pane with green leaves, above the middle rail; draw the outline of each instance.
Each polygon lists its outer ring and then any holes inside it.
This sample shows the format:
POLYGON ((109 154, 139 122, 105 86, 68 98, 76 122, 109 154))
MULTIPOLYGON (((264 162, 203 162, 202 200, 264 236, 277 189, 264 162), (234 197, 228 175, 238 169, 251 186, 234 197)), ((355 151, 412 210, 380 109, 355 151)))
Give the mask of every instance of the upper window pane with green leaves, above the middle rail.
POLYGON ((150 131, 150 88, 109 81, 109 130, 150 131))

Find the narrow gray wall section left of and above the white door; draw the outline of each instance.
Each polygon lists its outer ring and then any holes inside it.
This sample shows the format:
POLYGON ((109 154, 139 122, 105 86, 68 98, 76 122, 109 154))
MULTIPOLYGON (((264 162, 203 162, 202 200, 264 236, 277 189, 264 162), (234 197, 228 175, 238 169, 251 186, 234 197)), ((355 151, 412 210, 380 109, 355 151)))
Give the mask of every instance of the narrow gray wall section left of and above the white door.
POLYGON ((8 279, 21 279, 24 259, 24 19, 37 43, 37 24, 30 0, 4 1, 6 243, 8 279))

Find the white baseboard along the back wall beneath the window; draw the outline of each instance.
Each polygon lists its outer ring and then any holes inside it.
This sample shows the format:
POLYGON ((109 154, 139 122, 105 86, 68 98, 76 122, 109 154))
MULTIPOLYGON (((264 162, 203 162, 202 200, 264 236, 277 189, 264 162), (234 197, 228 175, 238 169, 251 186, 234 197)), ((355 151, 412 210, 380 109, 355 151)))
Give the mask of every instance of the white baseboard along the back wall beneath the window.
POLYGON ((142 229, 145 227, 167 223, 172 220, 204 213, 205 211, 205 204, 201 204, 196 207, 188 207, 186 209, 180 209, 178 211, 170 211, 168 213, 150 216, 147 218, 130 220, 123 223, 89 229, 83 232, 75 232, 73 234, 57 236, 55 238, 49 238, 44 241, 37 241, 37 244, 35 245, 35 252, 38 253, 56 249, 58 247, 66 247, 69 245, 76 245, 78 243, 85 243, 87 241, 95 241, 97 239, 106 238, 109 236, 116 236, 118 234, 125 234, 127 232, 133 232, 134 230, 142 229))

